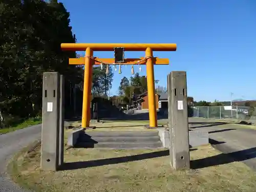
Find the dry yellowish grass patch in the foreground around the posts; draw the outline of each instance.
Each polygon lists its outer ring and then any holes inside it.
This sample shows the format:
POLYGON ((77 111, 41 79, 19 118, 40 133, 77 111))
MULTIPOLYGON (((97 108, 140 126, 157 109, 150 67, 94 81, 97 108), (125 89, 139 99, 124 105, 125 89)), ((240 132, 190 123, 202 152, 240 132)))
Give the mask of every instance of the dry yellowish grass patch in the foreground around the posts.
POLYGON ((26 156, 24 153, 15 156, 9 170, 20 185, 47 192, 255 191, 255 173, 243 163, 220 155, 210 145, 190 152, 194 168, 206 163, 206 159, 199 159, 218 155, 219 160, 211 161, 221 163, 226 158, 230 163, 209 166, 208 161, 204 168, 175 171, 167 155, 168 151, 163 150, 70 149, 65 152, 66 170, 42 172, 37 148, 26 156))

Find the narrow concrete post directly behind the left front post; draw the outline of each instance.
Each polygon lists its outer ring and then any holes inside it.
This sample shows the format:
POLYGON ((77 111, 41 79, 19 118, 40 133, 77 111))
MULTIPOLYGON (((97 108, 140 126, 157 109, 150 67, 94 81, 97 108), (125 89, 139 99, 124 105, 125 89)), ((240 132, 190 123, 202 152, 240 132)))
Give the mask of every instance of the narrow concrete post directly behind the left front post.
POLYGON ((65 101, 65 80, 60 75, 60 101, 59 101, 59 166, 64 163, 64 101, 65 101))

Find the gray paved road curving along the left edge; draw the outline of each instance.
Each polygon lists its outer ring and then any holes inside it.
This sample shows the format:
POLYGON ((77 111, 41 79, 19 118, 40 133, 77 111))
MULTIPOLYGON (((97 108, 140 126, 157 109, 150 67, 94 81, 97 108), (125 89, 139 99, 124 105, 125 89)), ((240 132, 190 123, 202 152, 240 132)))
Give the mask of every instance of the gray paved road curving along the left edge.
POLYGON ((41 125, 34 125, 26 129, 0 135, 0 192, 26 191, 14 185, 7 177, 5 172, 6 164, 13 154, 40 138, 41 125))

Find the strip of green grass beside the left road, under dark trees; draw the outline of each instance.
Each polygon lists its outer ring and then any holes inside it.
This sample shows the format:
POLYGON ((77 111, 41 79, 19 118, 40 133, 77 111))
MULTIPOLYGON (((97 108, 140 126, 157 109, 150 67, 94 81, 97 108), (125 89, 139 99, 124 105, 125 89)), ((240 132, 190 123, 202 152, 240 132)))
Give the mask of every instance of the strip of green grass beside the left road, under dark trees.
POLYGON ((19 123, 19 124, 14 125, 14 126, 10 126, 10 127, 4 128, 4 129, 0 129, 0 133, 2 133, 2 134, 10 133, 10 132, 13 132, 13 131, 16 131, 16 130, 26 128, 28 126, 40 124, 41 122, 42 122, 41 118, 30 118, 30 119, 27 119, 27 120, 19 123))

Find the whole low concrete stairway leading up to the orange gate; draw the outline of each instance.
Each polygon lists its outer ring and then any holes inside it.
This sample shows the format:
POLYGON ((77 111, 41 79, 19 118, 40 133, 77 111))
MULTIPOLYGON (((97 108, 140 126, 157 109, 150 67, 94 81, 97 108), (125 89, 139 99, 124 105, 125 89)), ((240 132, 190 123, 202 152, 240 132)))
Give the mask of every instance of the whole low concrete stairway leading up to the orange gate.
POLYGON ((139 149, 162 148, 157 131, 148 132, 87 132, 79 137, 76 147, 139 149))

